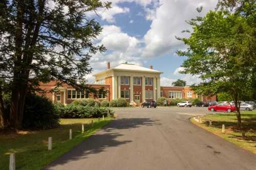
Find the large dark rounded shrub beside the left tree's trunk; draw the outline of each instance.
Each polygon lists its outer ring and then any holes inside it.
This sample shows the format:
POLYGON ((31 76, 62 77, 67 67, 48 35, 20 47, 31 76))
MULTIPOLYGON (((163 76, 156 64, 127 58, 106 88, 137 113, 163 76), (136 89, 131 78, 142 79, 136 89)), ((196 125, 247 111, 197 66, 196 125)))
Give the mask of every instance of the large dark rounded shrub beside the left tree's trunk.
POLYGON ((50 129, 59 126, 58 113, 46 96, 29 94, 25 100, 23 128, 50 129))

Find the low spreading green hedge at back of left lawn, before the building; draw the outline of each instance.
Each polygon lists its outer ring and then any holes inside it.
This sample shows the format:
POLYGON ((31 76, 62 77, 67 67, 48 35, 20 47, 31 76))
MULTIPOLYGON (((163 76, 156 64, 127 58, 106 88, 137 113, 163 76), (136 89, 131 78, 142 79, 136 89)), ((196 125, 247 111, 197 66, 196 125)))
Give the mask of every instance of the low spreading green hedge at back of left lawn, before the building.
MULTIPOLYGON (((107 116, 108 109, 104 107, 90 107, 81 105, 68 105, 65 107, 62 118, 97 118, 102 115, 107 116)), ((110 111, 111 116, 114 115, 114 111, 110 111)))

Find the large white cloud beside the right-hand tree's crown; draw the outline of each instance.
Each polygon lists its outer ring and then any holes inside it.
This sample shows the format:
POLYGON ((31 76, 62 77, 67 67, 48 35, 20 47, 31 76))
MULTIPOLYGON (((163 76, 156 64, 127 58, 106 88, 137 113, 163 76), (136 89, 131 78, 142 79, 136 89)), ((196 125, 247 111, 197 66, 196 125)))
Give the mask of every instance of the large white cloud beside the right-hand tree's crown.
POLYGON ((181 33, 190 29, 185 20, 198 15, 196 8, 203 6, 202 15, 216 7, 216 0, 160 0, 155 10, 148 10, 147 19, 152 19, 150 30, 144 36, 146 47, 142 57, 152 58, 164 54, 172 54, 177 48, 184 48, 183 42, 175 36, 188 36, 181 33))

